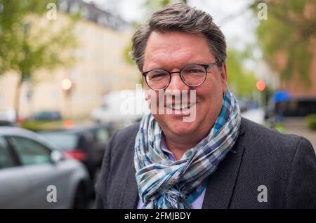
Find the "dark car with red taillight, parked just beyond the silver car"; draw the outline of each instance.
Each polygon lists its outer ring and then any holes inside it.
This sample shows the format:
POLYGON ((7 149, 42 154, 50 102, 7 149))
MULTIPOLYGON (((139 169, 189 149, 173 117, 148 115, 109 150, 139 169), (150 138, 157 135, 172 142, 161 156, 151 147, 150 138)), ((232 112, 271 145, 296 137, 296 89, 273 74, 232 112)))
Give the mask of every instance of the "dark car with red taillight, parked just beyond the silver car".
POLYGON ((76 127, 71 130, 45 131, 40 134, 62 149, 65 156, 72 157, 86 165, 91 180, 103 161, 107 141, 112 128, 104 125, 76 127))

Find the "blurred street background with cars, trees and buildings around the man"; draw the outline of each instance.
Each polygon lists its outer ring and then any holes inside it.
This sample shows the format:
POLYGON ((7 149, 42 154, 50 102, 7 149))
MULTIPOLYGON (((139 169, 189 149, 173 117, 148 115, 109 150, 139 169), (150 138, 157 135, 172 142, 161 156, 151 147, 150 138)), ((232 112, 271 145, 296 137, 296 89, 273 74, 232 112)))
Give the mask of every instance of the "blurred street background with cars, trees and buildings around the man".
POLYGON ((119 112, 143 101, 131 36, 176 2, 220 25, 242 116, 316 149, 315 0, 0 0, 0 208, 95 207, 108 140, 142 116, 119 112))

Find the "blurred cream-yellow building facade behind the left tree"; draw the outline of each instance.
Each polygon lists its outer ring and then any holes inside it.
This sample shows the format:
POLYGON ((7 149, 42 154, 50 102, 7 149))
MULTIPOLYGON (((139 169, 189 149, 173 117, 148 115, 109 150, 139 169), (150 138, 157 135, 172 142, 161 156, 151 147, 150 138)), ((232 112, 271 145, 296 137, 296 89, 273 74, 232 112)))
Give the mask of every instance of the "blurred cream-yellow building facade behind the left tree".
MULTIPOLYGON (((74 27, 79 47, 72 53, 76 62, 72 67, 53 72, 38 71, 36 81, 22 83, 19 114, 30 116, 44 110, 58 111, 65 118, 86 118, 98 107, 103 95, 110 90, 134 89, 140 79, 136 66, 124 60, 133 26, 121 18, 102 11, 93 4, 79 0, 58 1, 58 18, 81 11, 83 19, 74 27), (70 91, 62 89, 64 79, 70 79, 70 91)), ((0 76, 0 110, 14 107, 18 76, 0 76)))

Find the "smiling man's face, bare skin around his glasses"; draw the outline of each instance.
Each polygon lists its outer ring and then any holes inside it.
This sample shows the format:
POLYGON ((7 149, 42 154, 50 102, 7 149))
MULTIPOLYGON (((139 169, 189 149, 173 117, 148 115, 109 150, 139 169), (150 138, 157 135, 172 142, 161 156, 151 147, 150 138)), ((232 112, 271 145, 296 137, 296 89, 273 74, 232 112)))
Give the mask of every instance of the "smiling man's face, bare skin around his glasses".
MULTIPOLYGON (((204 36, 185 32, 152 32, 147 41, 143 72, 152 69, 166 69, 169 72, 178 72, 190 64, 208 65, 216 62, 204 36)), ((144 81, 145 90, 151 90, 144 81)), ((168 136, 206 135, 215 123, 223 104, 223 93, 227 89, 226 67, 222 69, 213 66, 207 69, 206 81, 201 86, 189 87, 180 79, 180 75, 171 74, 171 83, 166 90, 196 90, 196 116, 193 121, 183 121, 185 114, 157 114, 152 111, 159 126, 168 136)), ((151 95, 158 92, 152 90, 151 95)), ((189 97, 190 98, 190 93, 189 97)), ((166 107, 166 101, 164 102, 166 107)), ((193 109, 193 107, 191 108, 193 109)), ((166 111, 166 110, 165 110, 166 111)))

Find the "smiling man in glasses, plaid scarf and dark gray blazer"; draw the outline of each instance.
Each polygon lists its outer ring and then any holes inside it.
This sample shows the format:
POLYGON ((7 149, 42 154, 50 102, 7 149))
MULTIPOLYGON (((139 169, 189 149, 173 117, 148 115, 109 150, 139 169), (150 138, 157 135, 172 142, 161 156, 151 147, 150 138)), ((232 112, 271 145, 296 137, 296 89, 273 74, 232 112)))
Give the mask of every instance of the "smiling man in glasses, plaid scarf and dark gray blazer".
POLYGON ((134 34, 131 55, 152 114, 110 140, 98 208, 316 208, 312 145, 241 118, 211 15, 166 6, 134 34), (183 105, 176 91, 196 97, 183 105))

